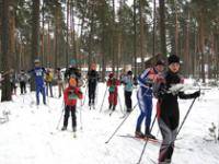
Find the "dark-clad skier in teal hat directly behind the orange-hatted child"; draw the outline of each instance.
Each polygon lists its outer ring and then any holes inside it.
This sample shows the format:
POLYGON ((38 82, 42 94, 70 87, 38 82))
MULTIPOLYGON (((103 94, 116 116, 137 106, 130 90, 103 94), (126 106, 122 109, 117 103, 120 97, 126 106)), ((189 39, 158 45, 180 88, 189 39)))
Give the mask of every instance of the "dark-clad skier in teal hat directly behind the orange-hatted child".
POLYGON ((77 81, 77 86, 80 87, 83 85, 82 80, 81 80, 81 71, 77 68, 77 63, 74 59, 70 60, 69 68, 66 70, 64 75, 65 75, 66 83, 69 82, 70 78, 73 78, 77 81))

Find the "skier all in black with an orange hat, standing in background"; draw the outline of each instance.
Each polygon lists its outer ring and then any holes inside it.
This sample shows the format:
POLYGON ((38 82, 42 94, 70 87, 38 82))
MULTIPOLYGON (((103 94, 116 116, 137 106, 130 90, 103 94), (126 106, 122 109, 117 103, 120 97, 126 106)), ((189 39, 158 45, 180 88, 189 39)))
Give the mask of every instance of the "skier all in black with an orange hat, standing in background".
POLYGON ((89 106, 94 105, 97 81, 99 81, 99 73, 96 71, 96 66, 95 63, 92 63, 91 70, 88 72, 89 106))

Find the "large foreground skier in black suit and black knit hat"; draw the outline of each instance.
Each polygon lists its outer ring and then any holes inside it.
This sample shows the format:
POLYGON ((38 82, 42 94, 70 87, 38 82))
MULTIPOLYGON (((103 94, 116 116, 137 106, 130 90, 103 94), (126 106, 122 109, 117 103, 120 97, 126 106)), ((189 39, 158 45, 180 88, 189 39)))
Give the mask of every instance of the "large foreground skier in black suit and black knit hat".
POLYGON ((176 55, 172 55, 168 58, 168 71, 157 81, 157 86, 153 90, 158 98, 158 125, 163 138, 159 153, 159 164, 171 163, 180 121, 177 97, 187 99, 196 98, 200 95, 200 91, 196 91, 193 94, 185 94, 182 91, 168 92, 172 85, 183 82, 178 75, 180 58, 176 55))

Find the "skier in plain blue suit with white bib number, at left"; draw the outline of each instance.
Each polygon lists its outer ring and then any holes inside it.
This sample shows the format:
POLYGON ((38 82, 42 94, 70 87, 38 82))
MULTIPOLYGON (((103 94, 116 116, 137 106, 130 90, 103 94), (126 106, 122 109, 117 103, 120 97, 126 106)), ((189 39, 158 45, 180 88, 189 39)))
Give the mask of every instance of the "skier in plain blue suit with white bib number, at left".
POLYGON ((43 102, 46 105, 46 93, 45 93, 45 82, 44 82, 44 74, 46 73, 45 68, 41 67, 39 59, 34 60, 34 69, 28 71, 35 78, 35 85, 36 85, 36 104, 39 105, 39 92, 43 95, 43 102))

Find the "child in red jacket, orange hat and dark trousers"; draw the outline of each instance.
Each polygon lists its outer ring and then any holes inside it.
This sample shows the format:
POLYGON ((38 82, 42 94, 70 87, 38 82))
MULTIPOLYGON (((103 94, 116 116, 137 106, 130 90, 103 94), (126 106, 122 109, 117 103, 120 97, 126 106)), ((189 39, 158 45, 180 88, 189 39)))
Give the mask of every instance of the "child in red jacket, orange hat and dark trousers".
POLYGON ((77 130, 77 117, 76 117, 76 105, 77 99, 82 98, 82 92, 77 86, 77 81, 73 78, 70 78, 69 85, 64 91, 64 101, 65 101, 65 115, 64 115, 64 127, 61 130, 66 130, 68 126, 69 114, 71 113, 72 118, 72 129, 73 132, 77 130))

